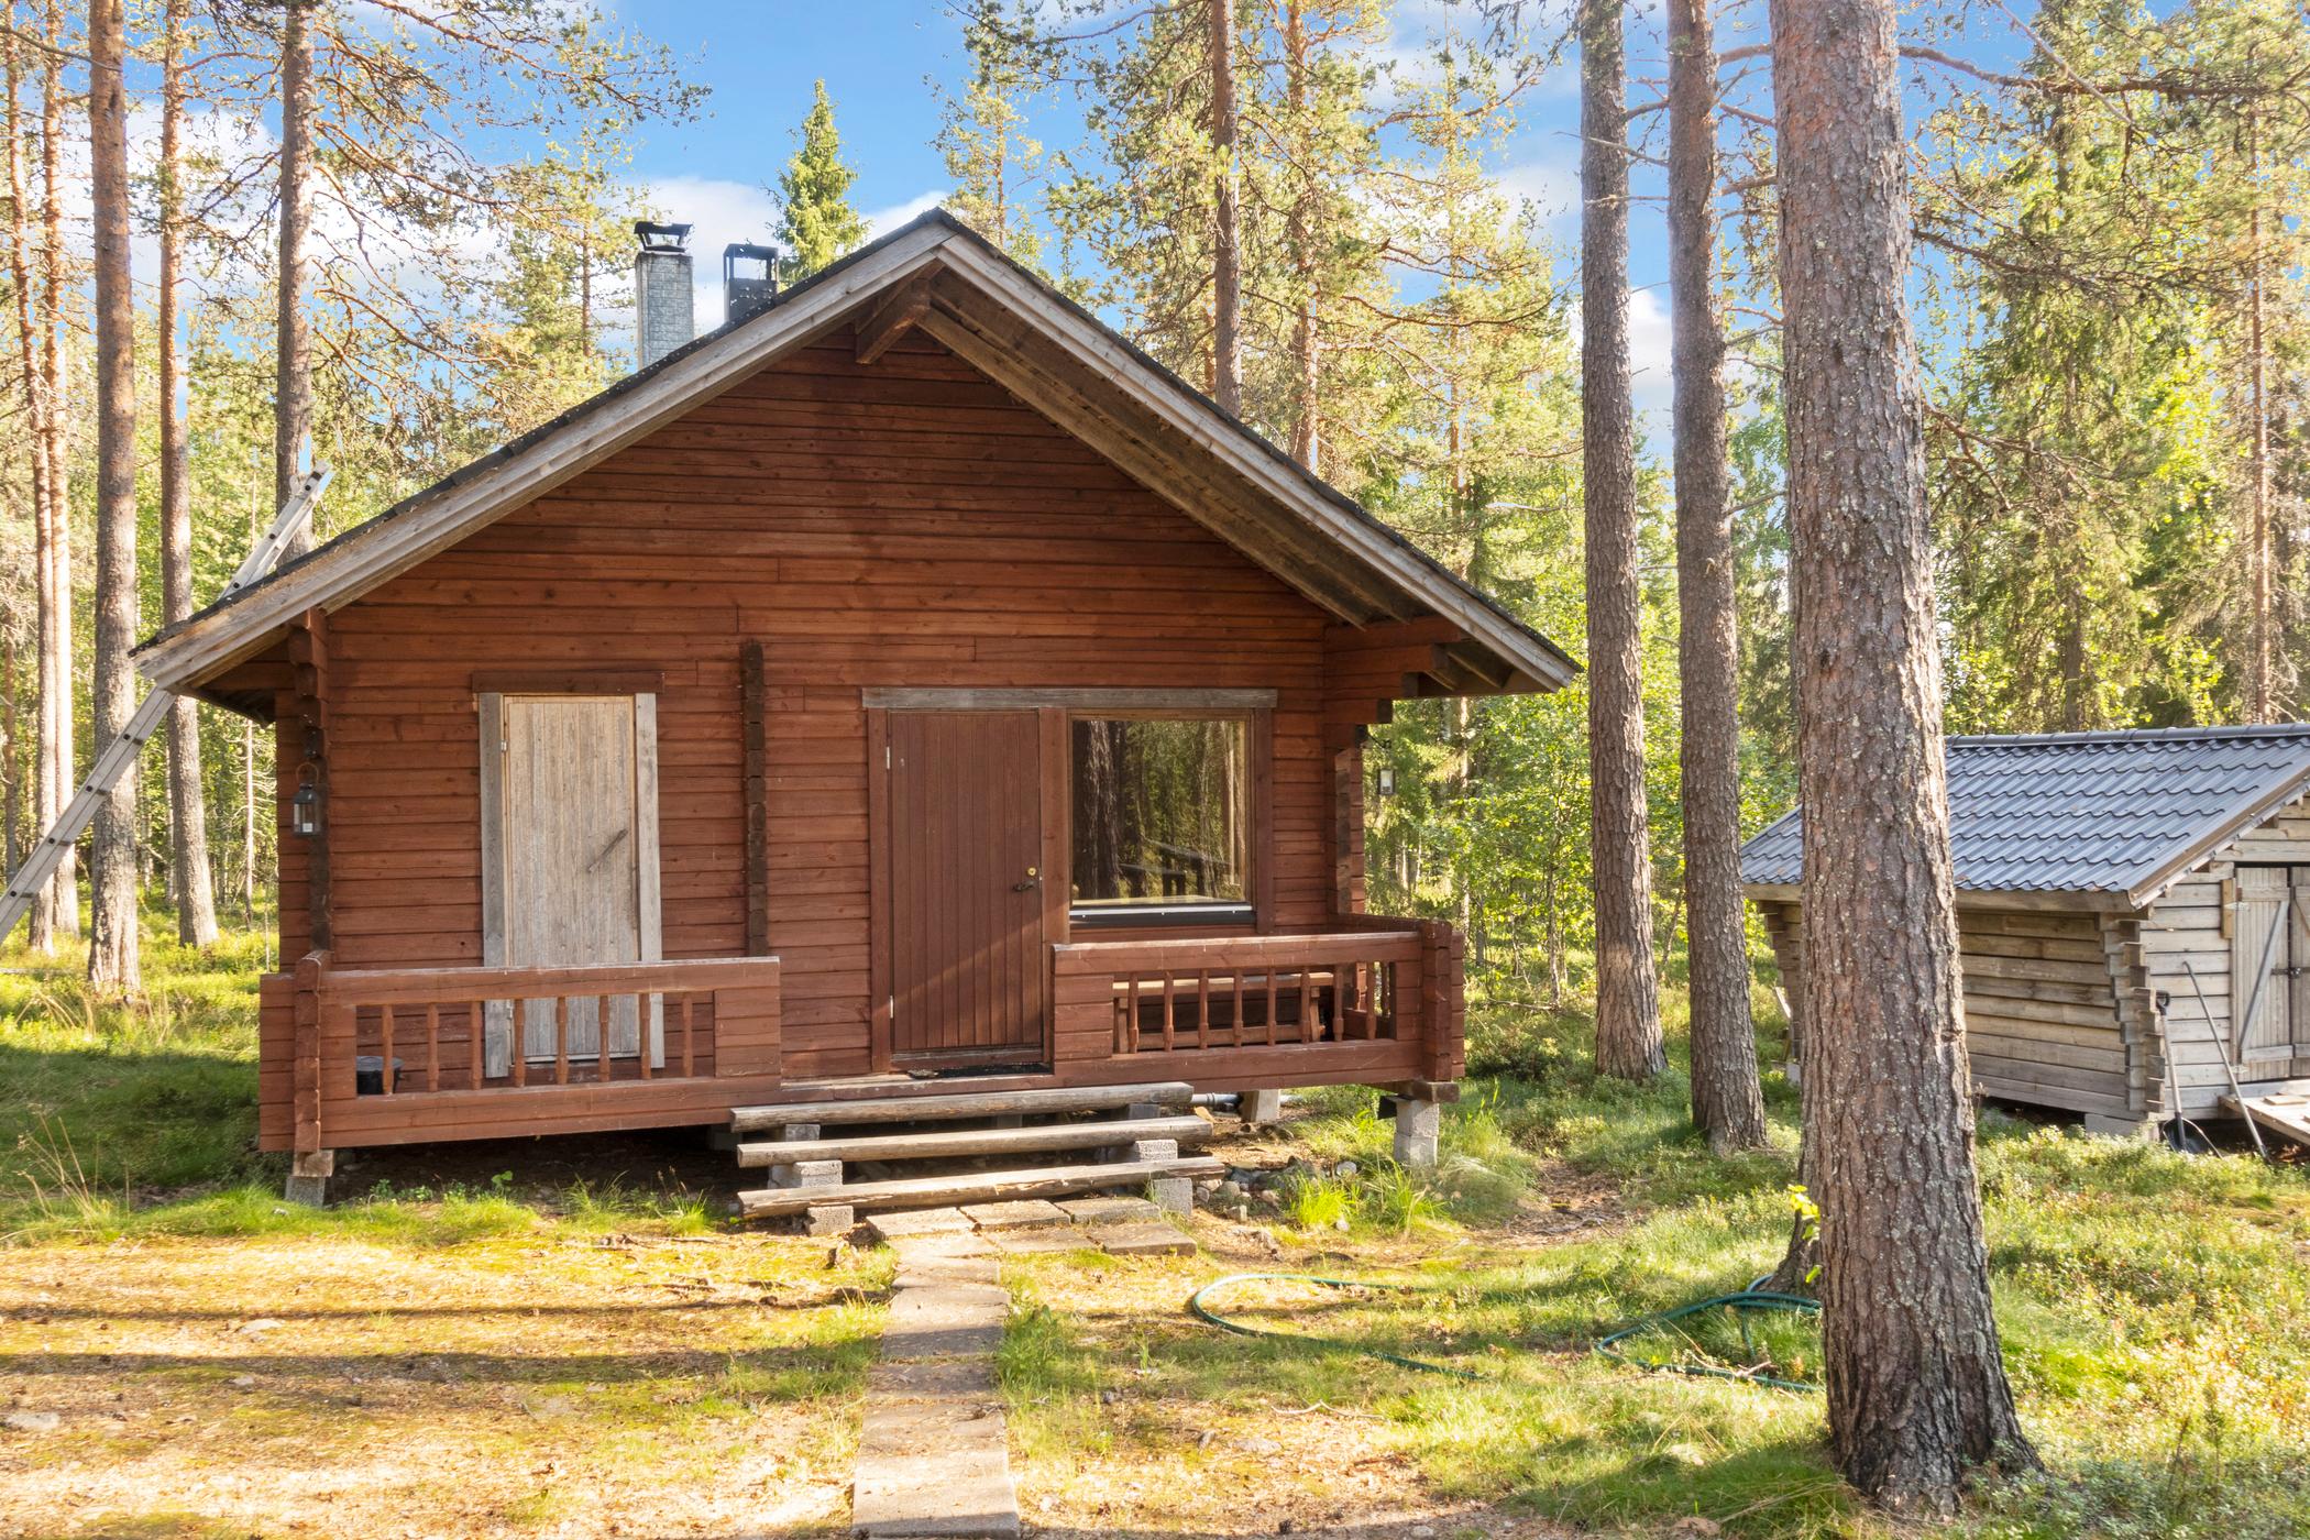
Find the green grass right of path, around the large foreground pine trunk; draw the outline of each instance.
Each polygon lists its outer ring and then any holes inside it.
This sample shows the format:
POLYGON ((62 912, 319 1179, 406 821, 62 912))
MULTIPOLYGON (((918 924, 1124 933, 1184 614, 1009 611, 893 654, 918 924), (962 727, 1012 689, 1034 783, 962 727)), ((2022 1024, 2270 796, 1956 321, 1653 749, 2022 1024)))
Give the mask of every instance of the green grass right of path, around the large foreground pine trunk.
MULTIPOLYGON (((1377 1413, 1386 1445, 1451 1498, 1589 1528, 1702 1515, 1735 1535, 1894 1533, 1827 1464, 1818 1392, 1645 1374, 1592 1351, 1619 1325, 1737 1291, 1779 1261, 1795 1092, 1769 1076, 1774 1150, 1714 1159, 1691 1129, 1684 1076, 1596 1078, 1578 1018, 1538 1023, 1513 1069, 1469 1083, 1467 1099, 1446 1108, 1444 1159, 1425 1184, 1386 1159, 1388 1131, 1368 1092, 1314 1092, 1317 1115, 1294 1124, 1319 1171, 1337 1159, 1361 1171, 1287 1189, 1284 1258, 1273 1268, 1407 1279, 1421 1293, 1240 1286, 1220 1302, 1282 1332, 1481 1378, 1243 1339, 1183 1314, 1116 1325, 1111 1304, 1070 1311, 1065 1279, 1042 1270, 1012 1332, 1016 1362, 1005 1358, 1021 1441, 1037 1450, 1097 1438, 1109 1459, 1127 1459, 1130 1425, 1100 1408, 1116 1385, 1194 1401, 1220 1427, 1229 1418, 1259 1427, 1275 1404, 1354 1406, 1377 1413), (1532 1184, 1555 1175, 1615 1187, 1626 1224, 1504 1244, 1492 1226, 1538 1210, 1545 1187, 1532 1184), (1347 1235, 1331 1228, 1340 1217, 1351 1221, 1347 1235), (1146 1390, 1150 1381, 1160 1390, 1146 1390)), ((1984 1117, 1980 1150, 2007 1369, 2047 1473, 1984 1482, 1968 1515, 1933 1533, 2310 1533, 2303 1171, 1998 1115, 1984 1117)), ((1210 1263, 1185 1263, 1173 1286, 1185 1293, 1208 1274, 1210 1263)), ((1769 1365, 1799 1381, 1820 1374, 1809 1316, 1758 1316, 1744 1339, 1714 1311, 1626 1351, 1769 1365)))

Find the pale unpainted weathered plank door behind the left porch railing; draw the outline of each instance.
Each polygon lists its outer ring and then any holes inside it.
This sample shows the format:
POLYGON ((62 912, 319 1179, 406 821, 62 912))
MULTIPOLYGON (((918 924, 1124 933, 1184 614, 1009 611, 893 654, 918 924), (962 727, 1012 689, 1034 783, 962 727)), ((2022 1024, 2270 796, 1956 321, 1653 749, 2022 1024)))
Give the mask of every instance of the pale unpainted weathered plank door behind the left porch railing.
MULTIPOLYGON (((483 960, 497 967, 658 960, 656 697, 485 697, 483 727, 485 743, 497 739, 497 764, 485 764, 494 773, 483 776, 483 960)), ((635 1057, 642 1014, 631 995, 571 1000, 566 1046, 554 1041, 554 1002, 524 1002, 522 1053, 598 1060, 603 1004, 612 1057, 635 1057)), ((649 1004, 651 1062, 663 1062, 658 1004, 649 1004)), ((504 1074, 508 1060, 508 1021, 504 1007, 492 1011, 492 1074, 504 1074)))

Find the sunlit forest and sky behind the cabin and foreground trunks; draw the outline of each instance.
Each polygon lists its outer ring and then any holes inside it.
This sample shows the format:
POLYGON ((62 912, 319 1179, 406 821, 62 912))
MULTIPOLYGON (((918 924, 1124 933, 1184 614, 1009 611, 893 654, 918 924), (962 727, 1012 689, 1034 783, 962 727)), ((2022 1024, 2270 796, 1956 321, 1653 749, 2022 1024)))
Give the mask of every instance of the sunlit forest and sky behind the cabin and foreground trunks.
MULTIPOLYGON (((753 14, 711 23, 730 37, 691 51, 709 25, 693 7, 305 9, 316 175, 303 314, 314 457, 337 471, 321 531, 631 369, 635 217, 698 219, 702 275, 723 240, 767 238, 799 277, 945 201, 1185 379, 1213 383, 1213 199, 1229 185, 1240 199, 1240 416, 1578 653, 1568 16, 1513 0, 1234 0, 1222 16, 1236 90, 1227 148, 1206 127, 1213 5, 908 7, 908 46, 878 60, 857 42, 875 28, 852 25, 832 53, 850 76, 783 99, 709 90, 709 60, 732 48, 815 62, 804 37, 753 14), (929 79, 894 62, 915 53, 936 55, 929 79), (728 178, 644 169, 709 115, 744 122, 739 141, 760 164, 728 178), (912 159, 875 150, 901 129, 912 159), (919 164, 942 173, 938 187, 917 185, 919 164)), ((44 739, 53 773, 62 716, 72 773, 92 755, 102 596, 88 561, 99 466, 83 9, 12 0, 5 39, 9 866, 37 833, 44 739), (42 575, 69 605, 44 612, 42 575)), ((254 0, 127 7, 139 635, 173 603, 217 591, 277 494, 286 14, 254 0), (162 386, 166 337, 178 365, 162 386), (166 464, 180 466, 180 513, 166 464), (187 552, 178 596, 173 545, 187 552)), ((1640 9, 1629 53, 1631 312, 1645 353, 1652 905, 1656 956, 1675 979, 1677 554, 1666 286, 1652 282, 1663 261, 1647 233, 1666 155, 1659 25, 1640 9)), ((1795 797, 1763 28, 1760 5, 1719 18, 1744 829, 1795 797)), ((2287 0, 1936 0, 1906 16, 1903 42, 1950 727, 2298 716, 2310 667, 2310 16, 2287 0)), ((718 316, 711 291, 700 305, 718 316)), ((199 753, 192 739, 155 741, 134 813, 141 877, 155 898, 166 891, 187 935, 194 889, 229 914, 261 912, 273 861, 270 746, 206 707, 192 720, 199 753), (176 794, 171 760, 182 764, 176 794)), ((1460 921, 1490 1004, 1582 1000, 1594 942, 1582 686, 1409 704, 1374 734, 1368 771, 1374 907, 1460 921)), ((76 905, 60 907, 55 944, 74 917, 76 905)))

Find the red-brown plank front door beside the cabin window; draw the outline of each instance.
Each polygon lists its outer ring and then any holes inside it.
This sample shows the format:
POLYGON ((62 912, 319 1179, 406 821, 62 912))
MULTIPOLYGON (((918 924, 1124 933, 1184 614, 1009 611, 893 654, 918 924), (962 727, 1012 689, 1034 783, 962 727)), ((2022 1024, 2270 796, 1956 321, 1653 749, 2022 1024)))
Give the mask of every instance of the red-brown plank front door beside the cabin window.
POLYGON ((889 1057, 1044 1060, 1042 732, 1033 711, 887 718, 889 1057))

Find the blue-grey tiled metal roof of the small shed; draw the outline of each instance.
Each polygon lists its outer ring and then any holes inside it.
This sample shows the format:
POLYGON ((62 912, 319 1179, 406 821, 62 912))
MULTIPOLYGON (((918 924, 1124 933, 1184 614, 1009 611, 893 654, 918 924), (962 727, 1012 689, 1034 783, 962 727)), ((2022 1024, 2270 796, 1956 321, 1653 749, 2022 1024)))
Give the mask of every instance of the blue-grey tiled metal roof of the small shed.
MULTIPOLYGON (((1950 739, 1961 894, 2144 905, 2310 783, 2310 725, 1950 739)), ((1749 887, 1802 882, 1802 808, 1739 852, 1749 887)))

